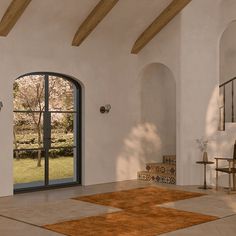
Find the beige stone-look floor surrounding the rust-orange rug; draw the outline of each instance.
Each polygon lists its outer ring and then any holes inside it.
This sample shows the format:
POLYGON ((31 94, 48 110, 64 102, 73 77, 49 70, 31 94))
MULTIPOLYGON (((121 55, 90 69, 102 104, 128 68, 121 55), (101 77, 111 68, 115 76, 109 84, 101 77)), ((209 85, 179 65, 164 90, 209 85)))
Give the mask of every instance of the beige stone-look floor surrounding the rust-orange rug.
POLYGON ((78 219, 118 210, 96 204, 79 201, 75 202, 75 200, 70 198, 150 185, 207 193, 208 195, 206 196, 162 204, 162 206, 220 217, 219 220, 213 222, 196 225, 163 235, 236 235, 236 194, 228 195, 223 190, 217 192, 215 190, 204 191, 199 190, 196 186, 160 185, 134 180, 87 187, 79 186, 54 189, 0 198, 0 236, 60 235, 42 229, 39 226, 64 221, 65 219, 78 219))

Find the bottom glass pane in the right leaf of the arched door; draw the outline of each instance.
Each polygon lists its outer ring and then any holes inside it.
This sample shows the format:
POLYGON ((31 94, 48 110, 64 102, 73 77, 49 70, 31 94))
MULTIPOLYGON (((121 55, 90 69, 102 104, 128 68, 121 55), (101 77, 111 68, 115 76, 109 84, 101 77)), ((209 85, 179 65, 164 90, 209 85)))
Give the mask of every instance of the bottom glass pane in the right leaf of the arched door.
POLYGON ((76 149, 60 148, 49 151, 49 183, 76 181, 76 149))

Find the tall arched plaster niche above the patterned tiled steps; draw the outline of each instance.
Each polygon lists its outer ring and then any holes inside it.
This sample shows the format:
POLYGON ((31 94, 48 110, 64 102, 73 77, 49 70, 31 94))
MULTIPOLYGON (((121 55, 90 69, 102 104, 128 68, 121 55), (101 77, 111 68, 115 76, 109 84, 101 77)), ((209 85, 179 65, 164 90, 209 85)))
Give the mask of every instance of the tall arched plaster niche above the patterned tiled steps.
POLYGON ((146 135, 142 154, 148 162, 161 162, 176 154, 176 82, 164 64, 151 63, 141 72, 141 124, 146 135))

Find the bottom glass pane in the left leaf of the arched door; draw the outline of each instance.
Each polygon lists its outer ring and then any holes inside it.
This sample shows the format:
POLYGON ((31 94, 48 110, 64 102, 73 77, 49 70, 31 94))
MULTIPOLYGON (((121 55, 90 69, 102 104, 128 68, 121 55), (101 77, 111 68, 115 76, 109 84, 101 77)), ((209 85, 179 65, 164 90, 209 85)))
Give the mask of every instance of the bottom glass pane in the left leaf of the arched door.
POLYGON ((13 158, 15 189, 44 185, 44 151, 14 151, 13 158))

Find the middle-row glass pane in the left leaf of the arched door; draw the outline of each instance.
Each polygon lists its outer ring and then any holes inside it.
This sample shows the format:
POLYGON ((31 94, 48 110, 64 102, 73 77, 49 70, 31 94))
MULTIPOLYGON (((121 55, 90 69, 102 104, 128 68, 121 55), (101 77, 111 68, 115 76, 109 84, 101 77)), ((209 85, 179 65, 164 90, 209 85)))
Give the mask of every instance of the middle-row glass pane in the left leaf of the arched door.
POLYGON ((43 113, 14 112, 14 149, 43 147, 43 113))

